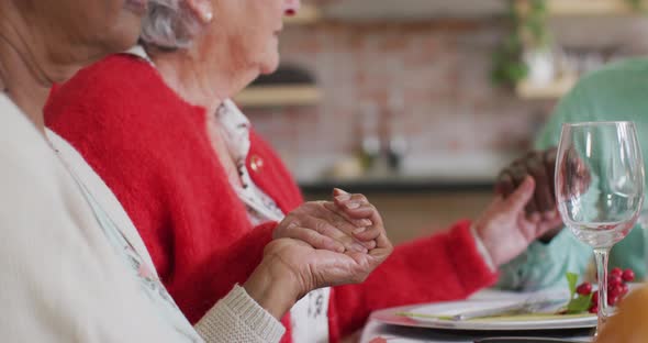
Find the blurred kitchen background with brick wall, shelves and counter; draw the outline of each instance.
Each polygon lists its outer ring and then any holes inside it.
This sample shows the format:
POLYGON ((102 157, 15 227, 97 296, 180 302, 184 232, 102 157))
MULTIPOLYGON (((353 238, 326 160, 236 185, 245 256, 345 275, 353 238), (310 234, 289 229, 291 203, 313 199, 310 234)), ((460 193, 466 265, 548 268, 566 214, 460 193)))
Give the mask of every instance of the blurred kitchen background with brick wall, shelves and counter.
POLYGON ((303 0, 236 100, 309 199, 365 192, 394 242, 474 218, 557 100, 648 53, 643 0, 303 0))

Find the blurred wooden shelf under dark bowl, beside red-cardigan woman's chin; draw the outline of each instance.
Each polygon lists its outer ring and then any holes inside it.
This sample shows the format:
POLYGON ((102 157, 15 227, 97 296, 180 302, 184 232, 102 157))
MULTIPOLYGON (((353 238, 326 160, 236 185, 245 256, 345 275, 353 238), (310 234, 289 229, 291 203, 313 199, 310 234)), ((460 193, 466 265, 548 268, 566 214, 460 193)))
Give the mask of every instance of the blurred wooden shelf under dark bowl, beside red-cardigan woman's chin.
POLYGON ((254 86, 243 90, 234 101, 242 107, 312 106, 322 99, 312 85, 254 86))

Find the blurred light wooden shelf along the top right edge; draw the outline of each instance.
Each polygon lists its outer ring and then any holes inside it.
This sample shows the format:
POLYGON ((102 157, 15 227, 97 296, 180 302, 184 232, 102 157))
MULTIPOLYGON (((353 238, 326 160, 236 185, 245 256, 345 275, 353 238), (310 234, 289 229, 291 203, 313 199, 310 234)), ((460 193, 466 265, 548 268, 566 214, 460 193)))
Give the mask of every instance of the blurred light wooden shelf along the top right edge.
MULTIPOLYGON (((547 0, 552 15, 634 15, 641 14, 626 0, 547 0)), ((644 0, 644 7, 648 1, 644 0)))

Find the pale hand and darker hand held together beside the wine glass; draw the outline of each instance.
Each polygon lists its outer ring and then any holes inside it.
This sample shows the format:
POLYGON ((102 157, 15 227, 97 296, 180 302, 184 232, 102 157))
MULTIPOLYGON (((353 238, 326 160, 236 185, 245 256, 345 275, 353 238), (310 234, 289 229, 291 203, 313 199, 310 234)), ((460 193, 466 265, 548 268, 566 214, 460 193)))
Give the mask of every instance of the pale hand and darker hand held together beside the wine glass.
MULTIPOLYGON (((495 265, 511 261, 537 239, 551 240, 562 229, 554 181, 556 154, 555 147, 530 152, 500 173, 496 198, 473 226, 495 265)), ((584 191, 590 172, 576 151, 568 154, 568 166, 561 170, 579 176, 574 187, 584 191)))

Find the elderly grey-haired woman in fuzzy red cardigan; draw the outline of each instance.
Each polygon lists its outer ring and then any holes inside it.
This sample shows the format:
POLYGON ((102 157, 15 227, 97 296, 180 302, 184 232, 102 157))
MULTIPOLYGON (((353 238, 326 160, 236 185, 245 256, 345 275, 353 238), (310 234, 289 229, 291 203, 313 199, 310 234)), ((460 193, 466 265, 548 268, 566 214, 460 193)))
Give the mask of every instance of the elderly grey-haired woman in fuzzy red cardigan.
MULTIPOLYGON (((304 203, 276 152, 228 100, 277 68, 282 16, 298 5, 152 1, 144 45, 80 71, 53 91, 45 109, 47 124, 121 200, 192 321, 246 279, 273 239, 367 252, 382 230, 331 215, 324 202, 304 203), (219 263, 202 263, 208 259, 219 263)), ((550 226, 524 215, 533 189, 528 179, 478 220, 398 246, 362 285, 309 294, 287 316, 284 339, 337 341, 372 310, 465 298, 492 285, 496 267, 550 226)), ((360 195, 334 196, 338 208, 372 210, 360 195)))

